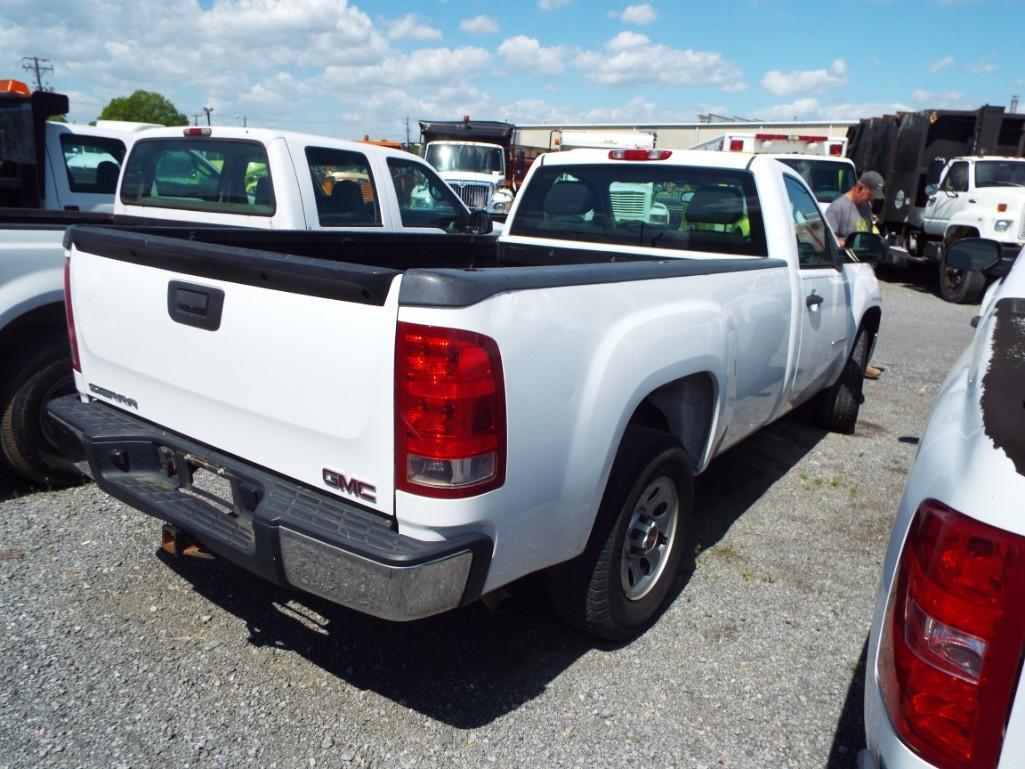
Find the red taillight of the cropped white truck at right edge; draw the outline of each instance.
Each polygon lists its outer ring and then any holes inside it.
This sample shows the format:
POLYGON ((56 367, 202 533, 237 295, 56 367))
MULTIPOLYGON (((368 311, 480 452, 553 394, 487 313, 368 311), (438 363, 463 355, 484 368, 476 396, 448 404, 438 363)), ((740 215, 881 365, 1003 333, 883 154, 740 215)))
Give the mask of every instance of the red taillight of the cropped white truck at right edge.
POLYGON ((992 769, 1025 646, 1025 537, 924 502, 901 554, 878 676, 900 738, 940 769, 992 769))

